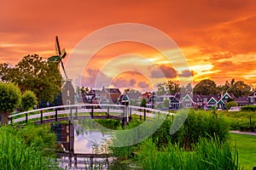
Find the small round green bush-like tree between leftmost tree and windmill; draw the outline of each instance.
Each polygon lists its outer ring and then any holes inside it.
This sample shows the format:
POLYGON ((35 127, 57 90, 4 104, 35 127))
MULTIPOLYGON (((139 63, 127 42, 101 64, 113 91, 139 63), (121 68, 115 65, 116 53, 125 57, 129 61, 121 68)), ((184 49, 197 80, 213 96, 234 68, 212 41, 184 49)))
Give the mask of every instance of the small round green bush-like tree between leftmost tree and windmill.
POLYGON ((28 111, 38 104, 37 96, 32 91, 26 90, 21 96, 21 110, 28 111))

